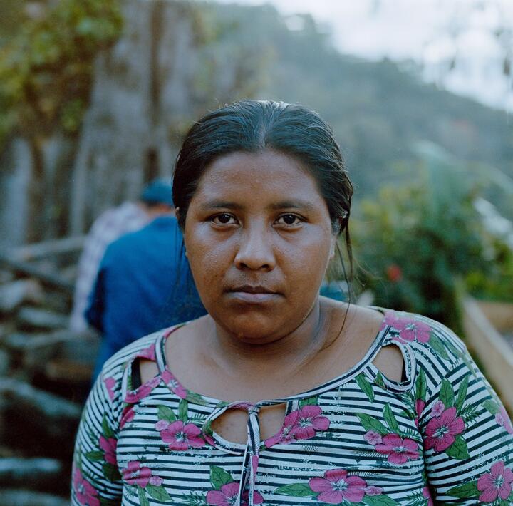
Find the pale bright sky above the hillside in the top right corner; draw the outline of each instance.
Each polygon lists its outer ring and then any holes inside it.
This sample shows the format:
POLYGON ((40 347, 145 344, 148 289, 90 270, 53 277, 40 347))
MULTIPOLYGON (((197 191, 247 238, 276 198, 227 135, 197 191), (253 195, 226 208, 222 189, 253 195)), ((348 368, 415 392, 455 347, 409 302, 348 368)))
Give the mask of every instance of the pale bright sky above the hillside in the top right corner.
POLYGON ((308 12, 344 53, 413 59, 427 81, 513 111, 513 79, 502 73, 505 54, 513 56, 513 0, 217 1, 269 3, 286 15, 308 12), (499 27, 509 30, 501 40, 492 34, 499 27))

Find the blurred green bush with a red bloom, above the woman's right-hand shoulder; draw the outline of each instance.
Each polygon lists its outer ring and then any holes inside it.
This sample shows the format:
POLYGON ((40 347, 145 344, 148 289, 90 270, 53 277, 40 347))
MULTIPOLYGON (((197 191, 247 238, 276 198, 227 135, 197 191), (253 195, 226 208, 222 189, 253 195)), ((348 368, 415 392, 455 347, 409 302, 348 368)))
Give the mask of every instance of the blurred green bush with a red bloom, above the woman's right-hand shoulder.
POLYGON ((362 277, 377 304, 431 316, 461 333, 465 281, 497 268, 490 252, 498 239, 476 210, 477 188, 465 167, 433 145, 418 153, 418 180, 387 185, 362 202, 356 254, 372 272, 362 277))

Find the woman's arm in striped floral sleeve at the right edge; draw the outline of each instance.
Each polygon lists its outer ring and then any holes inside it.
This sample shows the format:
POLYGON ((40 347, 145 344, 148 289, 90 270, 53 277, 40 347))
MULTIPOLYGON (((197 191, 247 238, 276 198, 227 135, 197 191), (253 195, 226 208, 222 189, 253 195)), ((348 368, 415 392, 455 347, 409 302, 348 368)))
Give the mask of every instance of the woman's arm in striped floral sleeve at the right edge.
POLYGON ((427 482, 437 502, 513 504, 513 427, 464 346, 446 347, 448 371, 435 381, 420 416, 427 482), (494 502, 497 501, 497 502, 494 502))

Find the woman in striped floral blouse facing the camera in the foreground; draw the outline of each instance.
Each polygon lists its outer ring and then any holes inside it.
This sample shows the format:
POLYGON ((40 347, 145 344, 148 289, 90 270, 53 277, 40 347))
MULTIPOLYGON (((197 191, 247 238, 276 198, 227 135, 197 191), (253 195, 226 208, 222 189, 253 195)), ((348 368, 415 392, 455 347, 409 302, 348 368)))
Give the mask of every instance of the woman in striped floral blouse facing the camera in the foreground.
POLYGON ((105 364, 73 504, 513 502, 512 425, 462 342, 318 295, 351 195, 310 110, 244 101, 192 126, 173 200, 209 314, 105 364))

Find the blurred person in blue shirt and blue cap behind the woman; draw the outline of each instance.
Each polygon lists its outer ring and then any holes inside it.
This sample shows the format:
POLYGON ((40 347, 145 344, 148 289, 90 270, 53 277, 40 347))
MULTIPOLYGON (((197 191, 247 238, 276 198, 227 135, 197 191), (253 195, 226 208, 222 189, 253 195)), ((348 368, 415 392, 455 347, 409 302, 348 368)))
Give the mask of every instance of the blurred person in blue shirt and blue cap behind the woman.
POLYGON ((93 380, 123 346, 206 312, 182 248, 171 185, 153 182, 141 198, 150 223, 107 247, 89 296, 86 320, 102 334, 93 380))

